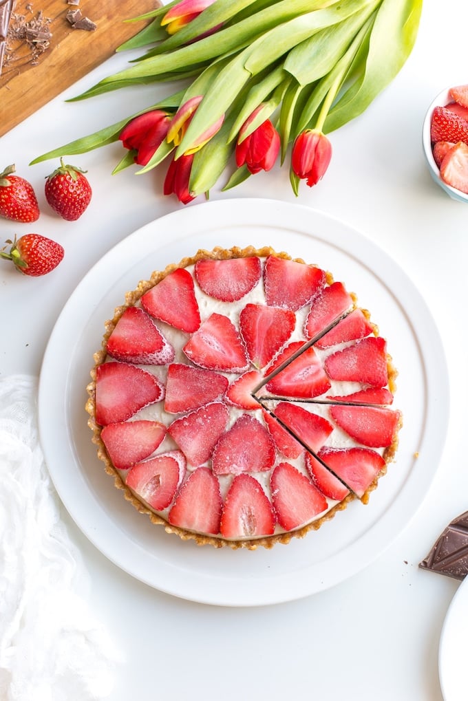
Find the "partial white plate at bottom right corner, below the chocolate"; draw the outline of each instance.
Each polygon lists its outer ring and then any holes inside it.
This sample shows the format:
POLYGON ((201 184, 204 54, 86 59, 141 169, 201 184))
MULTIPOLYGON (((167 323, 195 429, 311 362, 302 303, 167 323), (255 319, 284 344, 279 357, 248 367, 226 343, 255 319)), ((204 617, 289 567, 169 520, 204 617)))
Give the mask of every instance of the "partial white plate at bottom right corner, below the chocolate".
POLYGON ((439 678, 445 701, 466 701, 468 659, 468 578, 457 589, 443 622, 439 678))

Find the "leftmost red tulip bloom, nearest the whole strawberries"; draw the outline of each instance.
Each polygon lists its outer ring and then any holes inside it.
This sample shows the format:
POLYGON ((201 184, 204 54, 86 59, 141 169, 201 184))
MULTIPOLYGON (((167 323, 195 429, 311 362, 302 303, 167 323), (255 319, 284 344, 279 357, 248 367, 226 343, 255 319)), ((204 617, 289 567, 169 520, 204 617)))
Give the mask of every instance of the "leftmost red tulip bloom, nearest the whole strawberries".
POLYGON ((136 151, 135 163, 147 165, 156 149, 166 139, 171 115, 161 109, 140 114, 121 130, 119 139, 130 151, 136 151))

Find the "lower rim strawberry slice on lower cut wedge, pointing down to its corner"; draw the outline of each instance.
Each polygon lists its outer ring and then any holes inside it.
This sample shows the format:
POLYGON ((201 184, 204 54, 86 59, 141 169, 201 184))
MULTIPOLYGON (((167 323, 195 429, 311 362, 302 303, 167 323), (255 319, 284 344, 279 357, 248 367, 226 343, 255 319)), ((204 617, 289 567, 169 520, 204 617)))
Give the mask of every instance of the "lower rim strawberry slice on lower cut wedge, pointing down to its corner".
POLYGON ((323 448, 319 457, 359 497, 364 495, 375 477, 385 468, 384 458, 368 448, 323 448))

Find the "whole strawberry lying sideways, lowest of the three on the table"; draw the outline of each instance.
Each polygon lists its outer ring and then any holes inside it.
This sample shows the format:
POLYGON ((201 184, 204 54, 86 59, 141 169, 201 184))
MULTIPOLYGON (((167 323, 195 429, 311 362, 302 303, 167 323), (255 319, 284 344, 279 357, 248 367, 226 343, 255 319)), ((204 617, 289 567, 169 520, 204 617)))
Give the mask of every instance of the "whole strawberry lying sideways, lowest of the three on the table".
POLYGON ((18 241, 7 240, 11 245, 7 252, 0 250, 0 258, 13 261, 16 268, 25 275, 39 277, 56 268, 65 254, 60 243, 39 233, 25 233, 18 241))

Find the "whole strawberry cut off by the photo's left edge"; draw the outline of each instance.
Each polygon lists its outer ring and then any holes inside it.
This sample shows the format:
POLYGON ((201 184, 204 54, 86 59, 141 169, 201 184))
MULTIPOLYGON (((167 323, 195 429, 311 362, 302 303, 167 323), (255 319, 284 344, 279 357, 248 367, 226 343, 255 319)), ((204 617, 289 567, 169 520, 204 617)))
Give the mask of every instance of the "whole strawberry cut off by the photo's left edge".
POLYGON ((39 205, 32 184, 19 175, 13 175, 14 165, 0 173, 0 215, 13 222, 35 222, 39 219, 39 205))

